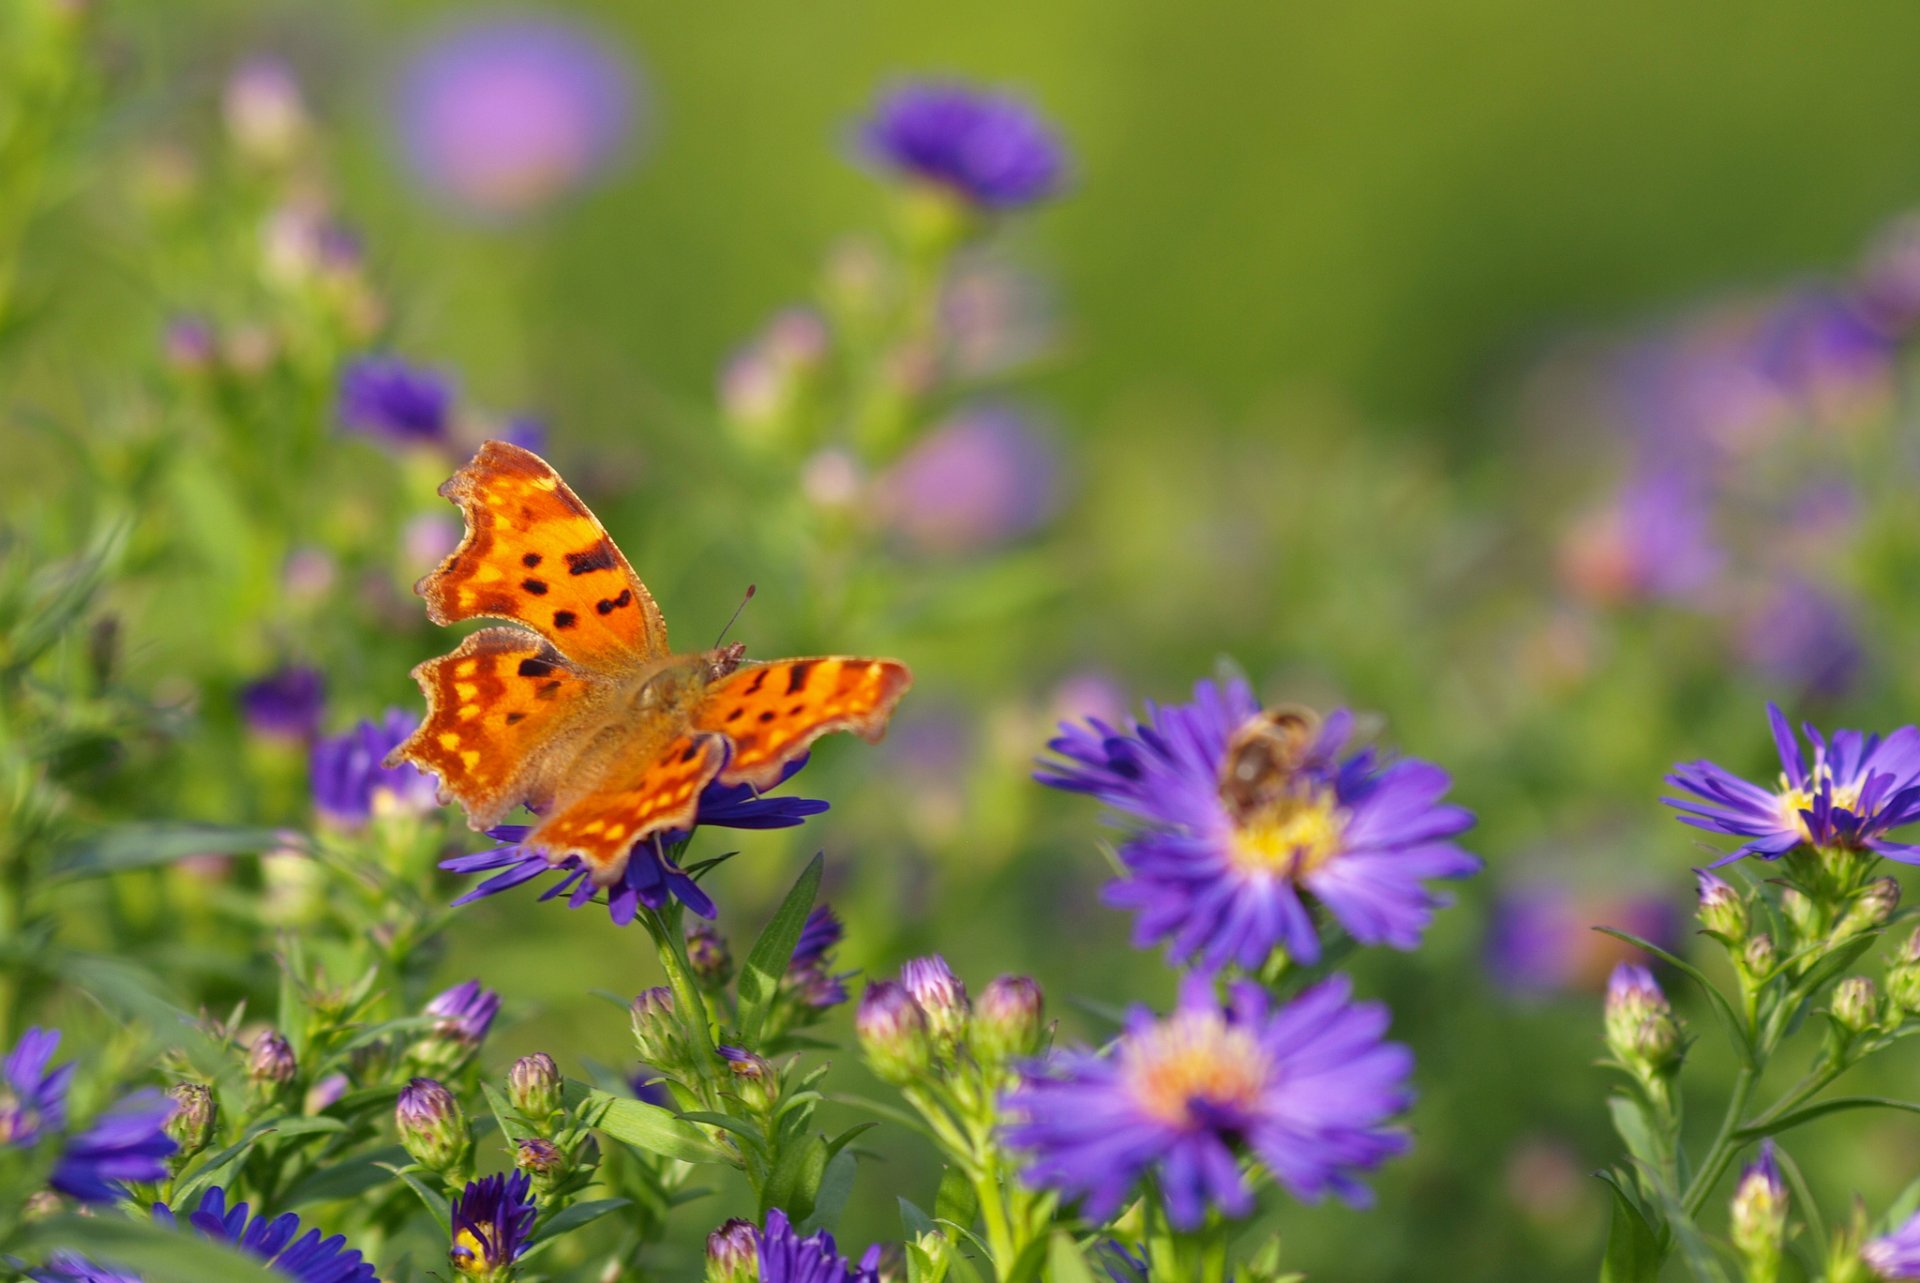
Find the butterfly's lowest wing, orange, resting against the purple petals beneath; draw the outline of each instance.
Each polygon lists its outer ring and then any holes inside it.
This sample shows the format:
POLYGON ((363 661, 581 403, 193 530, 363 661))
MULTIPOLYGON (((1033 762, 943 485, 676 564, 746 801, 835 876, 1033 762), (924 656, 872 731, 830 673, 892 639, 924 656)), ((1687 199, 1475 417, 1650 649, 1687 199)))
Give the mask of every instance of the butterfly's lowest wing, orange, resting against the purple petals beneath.
POLYGON ((636 736, 620 745, 599 780, 555 807, 528 834, 555 864, 578 855, 595 885, 620 880, 634 843, 689 830, 705 789, 726 763, 726 739, 710 734, 636 736))

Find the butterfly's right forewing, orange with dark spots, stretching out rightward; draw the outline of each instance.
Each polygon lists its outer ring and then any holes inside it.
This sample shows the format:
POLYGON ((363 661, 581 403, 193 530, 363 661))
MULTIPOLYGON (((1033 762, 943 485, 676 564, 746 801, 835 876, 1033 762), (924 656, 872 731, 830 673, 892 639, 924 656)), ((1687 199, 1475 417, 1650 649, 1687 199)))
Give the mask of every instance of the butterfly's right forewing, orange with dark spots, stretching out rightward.
POLYGON ((770 789, 787 763, 828 732, 851 730, 877 741, 912 684, 914 674, 897 659, 829 655, 749 665, 707 688, 691 726, 732 743, 722 784, 770 789))

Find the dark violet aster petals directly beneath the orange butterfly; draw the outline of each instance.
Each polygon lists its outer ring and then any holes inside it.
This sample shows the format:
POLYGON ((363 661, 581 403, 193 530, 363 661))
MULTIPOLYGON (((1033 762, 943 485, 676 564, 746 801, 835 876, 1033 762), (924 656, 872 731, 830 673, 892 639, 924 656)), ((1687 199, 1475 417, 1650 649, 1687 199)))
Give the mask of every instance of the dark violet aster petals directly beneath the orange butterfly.
MULTIPOLYGON (((804 764, 804 757, 789 764, 787 772, 780 778, 780 784, 791 780, 793 772, 804 764)), ((780 784, 774 787, 780 787, 780 784)), ((712 782, 707 786, 707 791, 701 793, 701 807, 695 822, 712 824, 716 828, 793 828, 806 816, 820 814, 826 809, 828 803, 810 797, 764 797, 755 793, 755 789, 745 784, 712 782)), ((499 828, 490 828, 488 834, 511 845, 442 860, 440 868, 455 874, 499 870, 453 903, 467 905, 470 901, 486 899, 488 895, 499 895, 501 891, 516 887, 522 882, 532 882, 534 878, 551 872, 561 874, 561 880, 541 891, 540 899, 551 901, 559 895, 566 895, 568 908, 580 908, 582 905, 591 903, 599 887, 595 887, 593 880, 588 878, 588 870, 580 857, 566 857, 555 864, 547 860, 543 851, 522 845, 522 839, 530 832, 532 828, 524 824, 501 824, 499 828)), ((620 882, 607 887, 607 912, 612 914, 614 922, 626 926, 634 920, 634 914, 639 912, 641 905, 647 908, 660 908, 666 905, 668 897, 676 897, 703 918, 714 916, 712 899, 701 891, 699 884, 682 872, 682 868, 672 860, 670 851, 685 843, 687 837, 691 837, 691 834, 670 832, 641 839, 634 845, 626 860, 626 870, 620 874, 620 882)))

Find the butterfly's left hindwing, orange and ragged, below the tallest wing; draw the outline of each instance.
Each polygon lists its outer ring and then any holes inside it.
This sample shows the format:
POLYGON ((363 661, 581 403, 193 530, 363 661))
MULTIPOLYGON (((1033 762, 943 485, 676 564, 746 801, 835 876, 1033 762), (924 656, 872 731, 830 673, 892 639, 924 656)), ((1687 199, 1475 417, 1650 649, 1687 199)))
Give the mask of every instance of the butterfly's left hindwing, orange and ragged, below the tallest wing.
POLYGON ((601 686, 524 628, 482 628, 419 665, 413 680, 426 693, 426 720, 388 764, 440 776, 440 801, 459 799, 474 828, 553 795, 601 686))

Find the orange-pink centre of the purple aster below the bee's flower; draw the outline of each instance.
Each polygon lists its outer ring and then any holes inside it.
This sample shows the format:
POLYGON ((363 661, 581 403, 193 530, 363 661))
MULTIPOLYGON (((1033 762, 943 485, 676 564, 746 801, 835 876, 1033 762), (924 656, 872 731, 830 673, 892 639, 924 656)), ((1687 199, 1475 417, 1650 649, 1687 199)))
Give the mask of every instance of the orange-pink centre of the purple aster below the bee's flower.
POLYGON ((1175 1127, 1206 1122, 1196 1104, 1252 1112, 1271 1070, 1260 1043, 1215 1012, 1179 1012, 1129 1039, 1119 1060, 1140 1110, 1175 1127))

